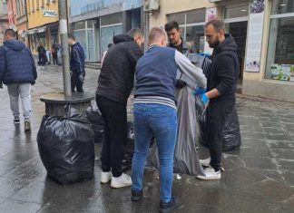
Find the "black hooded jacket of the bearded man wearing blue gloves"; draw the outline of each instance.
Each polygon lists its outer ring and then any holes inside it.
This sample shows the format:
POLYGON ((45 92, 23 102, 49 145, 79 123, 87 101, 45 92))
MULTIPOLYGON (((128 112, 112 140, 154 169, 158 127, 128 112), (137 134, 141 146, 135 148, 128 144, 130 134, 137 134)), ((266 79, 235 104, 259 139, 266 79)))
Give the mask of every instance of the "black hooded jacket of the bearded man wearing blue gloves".
POLYGON ((216 88, 220 92, 220 97, 211 99, 211 102, 236 101, 235 92, 240 73, 237 44, 230 34, 225 36, 226 39, 214 48, 211 72, 207 77, 207 91, 216 88))

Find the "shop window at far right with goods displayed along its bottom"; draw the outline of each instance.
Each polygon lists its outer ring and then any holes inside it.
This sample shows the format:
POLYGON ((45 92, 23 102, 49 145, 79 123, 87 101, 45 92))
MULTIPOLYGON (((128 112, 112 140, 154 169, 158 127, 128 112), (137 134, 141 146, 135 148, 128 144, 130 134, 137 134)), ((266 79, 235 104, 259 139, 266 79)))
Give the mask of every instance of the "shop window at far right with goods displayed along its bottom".
POLYGON ((294 82, 294 0, 274 0, 270 16, 267 79, 294 82))

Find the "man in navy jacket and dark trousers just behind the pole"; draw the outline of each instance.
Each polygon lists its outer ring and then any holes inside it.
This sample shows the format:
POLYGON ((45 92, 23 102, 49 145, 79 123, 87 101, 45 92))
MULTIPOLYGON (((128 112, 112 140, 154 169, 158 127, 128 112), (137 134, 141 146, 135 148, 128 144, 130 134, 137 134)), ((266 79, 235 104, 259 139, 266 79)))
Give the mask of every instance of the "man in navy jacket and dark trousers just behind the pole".
POLYGON ((83 92, 83 82, 85 76, 84 70, 84 52, 80 43, 75 42, 73 34, 68 35, 68 44, 71 46, 71 84, 72 92, 83 92))

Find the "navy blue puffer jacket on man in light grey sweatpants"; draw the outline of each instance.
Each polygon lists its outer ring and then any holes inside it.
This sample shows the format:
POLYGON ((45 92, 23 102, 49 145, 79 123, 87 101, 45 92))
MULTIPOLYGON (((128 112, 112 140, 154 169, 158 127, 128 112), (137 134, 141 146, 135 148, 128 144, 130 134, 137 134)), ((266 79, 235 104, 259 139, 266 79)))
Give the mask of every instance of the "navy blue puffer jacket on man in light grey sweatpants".
POLYGON ((0 82, 5 84, 30 82, 37 72, 31 51, 18 40, 9 40, 0 47, 0 82))

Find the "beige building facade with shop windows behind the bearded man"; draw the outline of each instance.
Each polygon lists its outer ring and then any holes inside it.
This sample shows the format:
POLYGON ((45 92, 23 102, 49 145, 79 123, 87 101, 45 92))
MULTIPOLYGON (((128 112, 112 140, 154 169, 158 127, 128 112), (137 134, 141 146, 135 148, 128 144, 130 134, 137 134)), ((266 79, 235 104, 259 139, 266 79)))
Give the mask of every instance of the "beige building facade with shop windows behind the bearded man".
MULTIPOLYGON (((149 2, 149 1, 147 1, 149 2)), ((294 102, 294 0, 161 0, 149 27, 177 21, 195 53, 212 53, 204 24, 224 20, 238 44, 244 94, 294 102)))

